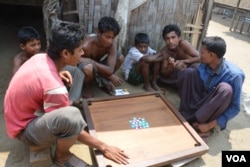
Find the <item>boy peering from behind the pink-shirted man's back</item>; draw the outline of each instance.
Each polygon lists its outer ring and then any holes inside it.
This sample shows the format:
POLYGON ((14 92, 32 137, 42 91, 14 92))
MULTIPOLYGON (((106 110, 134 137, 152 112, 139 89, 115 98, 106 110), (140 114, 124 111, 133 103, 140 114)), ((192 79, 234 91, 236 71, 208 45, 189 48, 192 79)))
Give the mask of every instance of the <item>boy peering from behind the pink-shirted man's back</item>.
POLYGON ((40 52, 41 36, 33 27, 22 27, 18 31, 19 46, 22 49, 13 59, 13 75, 30 57, 40 52))

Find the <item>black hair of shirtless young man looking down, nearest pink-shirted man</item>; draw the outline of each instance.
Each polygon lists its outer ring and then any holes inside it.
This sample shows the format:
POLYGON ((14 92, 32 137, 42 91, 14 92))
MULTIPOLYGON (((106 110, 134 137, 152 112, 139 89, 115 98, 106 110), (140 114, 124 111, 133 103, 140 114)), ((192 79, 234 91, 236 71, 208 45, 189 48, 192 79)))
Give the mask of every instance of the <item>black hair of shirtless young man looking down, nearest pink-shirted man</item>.
POLYGON ((100 31, 100 33, 113 31, 116 36, 119 34, 120 29, 120 25, 113 17, 104 16, 98 22, 98 30, 100 31))

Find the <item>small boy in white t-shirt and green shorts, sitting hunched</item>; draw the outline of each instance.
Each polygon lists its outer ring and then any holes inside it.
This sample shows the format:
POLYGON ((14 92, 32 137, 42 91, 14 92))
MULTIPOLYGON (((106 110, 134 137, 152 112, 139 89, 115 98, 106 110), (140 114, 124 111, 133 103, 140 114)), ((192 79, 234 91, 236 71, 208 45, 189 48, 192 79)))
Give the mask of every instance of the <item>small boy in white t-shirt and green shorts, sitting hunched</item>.
POLYGON ((156 51, 149 47, 148 35, 145 33, 136 34, 134 47, 129 49, 124 60, 123 72, 125 80, 134 85, 143 82, 143 88, 146 91, 160 90, 156 84, 157 75, 155 75, 155 73, 158 73, 158 63, 151 63, 147 59, 149 56, 154 56, 155 53, 156 51), (150 82, 151 76, 152 81, 150 82))

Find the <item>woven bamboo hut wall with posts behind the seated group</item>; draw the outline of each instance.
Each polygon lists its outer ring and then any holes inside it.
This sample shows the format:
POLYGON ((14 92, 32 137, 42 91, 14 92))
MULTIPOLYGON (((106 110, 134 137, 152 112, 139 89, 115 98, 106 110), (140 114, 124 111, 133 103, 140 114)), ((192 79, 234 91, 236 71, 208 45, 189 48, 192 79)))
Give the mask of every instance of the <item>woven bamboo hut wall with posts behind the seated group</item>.
POLYGON ((44 0, 44 25, 47 36, 56 21, 75 22, 86 33, 95 33, 103 16, 115 17, 122 29, 117 37, 119 50, 126 54, 136 33, 145 32, 156 50, 164 43, 163 27, 169 23, 182 29, 182 38, 197 49, 206 35, 213 0, 44 0))

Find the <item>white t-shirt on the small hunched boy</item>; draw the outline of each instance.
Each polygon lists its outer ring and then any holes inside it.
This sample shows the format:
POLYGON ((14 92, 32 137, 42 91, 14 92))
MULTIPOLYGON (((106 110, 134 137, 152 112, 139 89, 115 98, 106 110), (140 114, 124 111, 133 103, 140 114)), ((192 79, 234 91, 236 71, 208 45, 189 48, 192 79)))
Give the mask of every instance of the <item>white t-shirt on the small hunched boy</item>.
MULTIPOLYGON (((156 51, 148 47, 147 53, 146 54, 155 54, 156 51)), ((125 74, 125 80, 128 78, 128 74, 132 66, 139 62, 140 59, 142 58, 143 54, 136 48, 132 47, 129 49, 129 52, 127 56, 125 57, 124 63, 123 63, 123 72, 125 74)))

